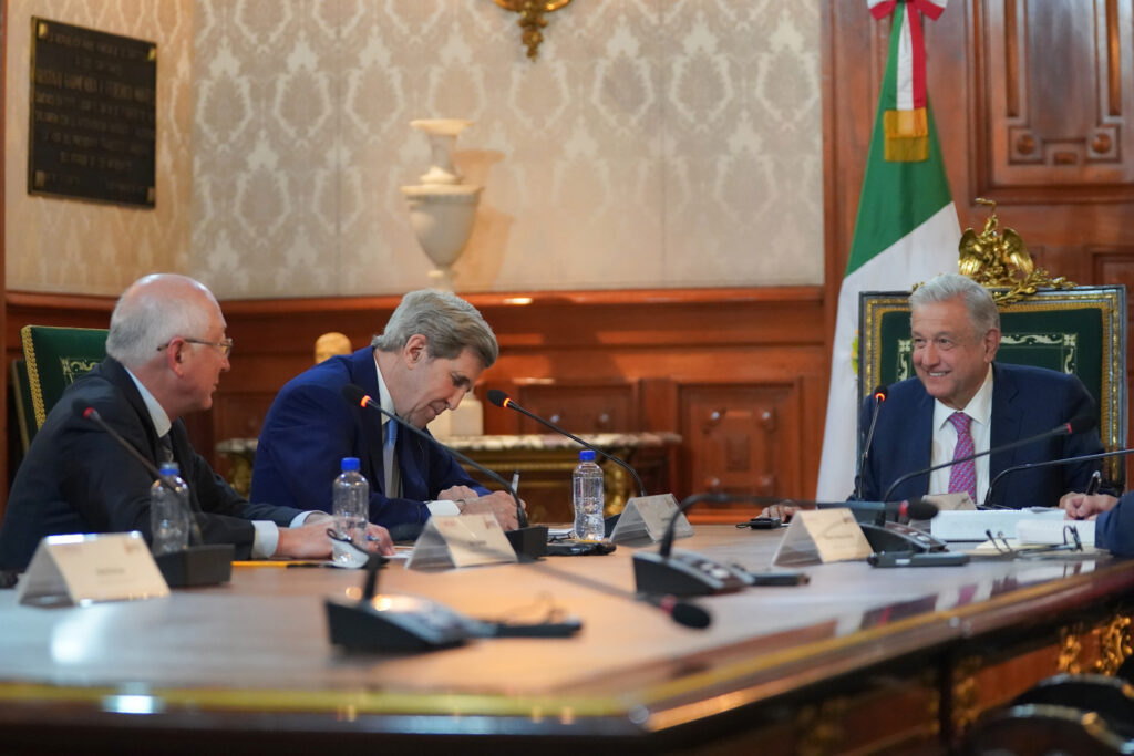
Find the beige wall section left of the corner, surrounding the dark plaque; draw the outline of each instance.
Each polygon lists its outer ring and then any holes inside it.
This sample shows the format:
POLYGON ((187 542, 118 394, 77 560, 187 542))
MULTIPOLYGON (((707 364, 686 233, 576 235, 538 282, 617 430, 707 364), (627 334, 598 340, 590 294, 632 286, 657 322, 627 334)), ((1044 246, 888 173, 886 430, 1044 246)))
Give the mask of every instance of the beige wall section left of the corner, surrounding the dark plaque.
POLYGON ((189 265, 192 0, 8 0, 5 61, 7 287, 117 294, 139 274, 189 265), (158 43, 156 209, 27 194, 31 18, 158 43))

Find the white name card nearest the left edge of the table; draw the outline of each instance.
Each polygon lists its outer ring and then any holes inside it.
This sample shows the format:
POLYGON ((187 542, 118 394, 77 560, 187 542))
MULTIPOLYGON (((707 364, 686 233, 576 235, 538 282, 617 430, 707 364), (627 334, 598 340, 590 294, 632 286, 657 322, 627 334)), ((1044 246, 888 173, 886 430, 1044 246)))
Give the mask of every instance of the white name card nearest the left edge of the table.
POLYGON ((169 586, 138 532, 51 535, 19 579, 22 604, 79 605, 158 598, 169 586))

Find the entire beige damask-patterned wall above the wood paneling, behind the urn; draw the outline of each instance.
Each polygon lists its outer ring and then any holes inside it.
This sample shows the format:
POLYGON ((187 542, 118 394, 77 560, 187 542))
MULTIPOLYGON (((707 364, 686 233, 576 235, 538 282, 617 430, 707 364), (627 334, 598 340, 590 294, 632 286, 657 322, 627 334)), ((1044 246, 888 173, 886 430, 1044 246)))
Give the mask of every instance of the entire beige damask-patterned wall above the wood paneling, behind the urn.
POLYGON ((822 280, 818 3, 575 0, 535 63, 491 0, 9 7, 10 288, 423 286, 398 187, 428 168, 408 121, 437 116, 476 121, 457 163, 485 187, 458 290, 822 280), (156 212, 26 195, 33 12, 159 42, 156 212))

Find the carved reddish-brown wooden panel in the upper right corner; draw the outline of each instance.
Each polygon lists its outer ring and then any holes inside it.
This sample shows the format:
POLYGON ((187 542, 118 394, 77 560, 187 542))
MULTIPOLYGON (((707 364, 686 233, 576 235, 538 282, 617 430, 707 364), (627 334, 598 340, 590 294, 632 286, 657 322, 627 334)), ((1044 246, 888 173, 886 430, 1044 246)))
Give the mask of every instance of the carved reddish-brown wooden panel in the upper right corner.
POLYGON ((976 8, 976 192, 1001 202, 1065 202, 1066 187, 1078 203, 1134 198, 1131 1, 976 8))

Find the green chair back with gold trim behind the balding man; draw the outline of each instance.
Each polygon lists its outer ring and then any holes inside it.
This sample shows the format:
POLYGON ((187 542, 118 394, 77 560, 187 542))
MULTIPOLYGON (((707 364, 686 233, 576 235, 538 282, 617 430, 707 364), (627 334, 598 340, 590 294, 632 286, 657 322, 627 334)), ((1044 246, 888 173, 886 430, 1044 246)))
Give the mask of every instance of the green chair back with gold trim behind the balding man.
POLYGON ((39 431, 64 390, 107 356, 107 331, 25 325, 19 338, 35 422, 31 427, 39 431))

